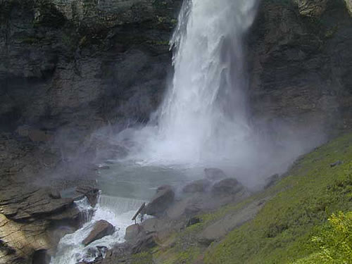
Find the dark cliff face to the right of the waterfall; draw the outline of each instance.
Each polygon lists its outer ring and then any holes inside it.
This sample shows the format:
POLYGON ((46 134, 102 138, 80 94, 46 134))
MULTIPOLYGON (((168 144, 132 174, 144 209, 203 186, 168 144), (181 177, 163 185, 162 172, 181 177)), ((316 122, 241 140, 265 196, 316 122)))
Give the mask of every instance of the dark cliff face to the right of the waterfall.
POLYGON ((351 129, 351 36, 343 0, 262 1, 249 36, 255 122, 287 132, 351 129))

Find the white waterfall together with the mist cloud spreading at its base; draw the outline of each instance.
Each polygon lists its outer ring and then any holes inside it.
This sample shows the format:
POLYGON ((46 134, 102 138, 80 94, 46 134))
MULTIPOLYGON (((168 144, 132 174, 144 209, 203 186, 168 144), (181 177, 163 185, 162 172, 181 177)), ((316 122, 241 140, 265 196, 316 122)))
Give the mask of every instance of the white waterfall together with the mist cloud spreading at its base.
POLYGON ((260 188, 325 140, 319 127, 292 130, 277 121, 268 130, 251 116, 245 37, 257 9, 256 0, 184 1, 170 40, 174 73, 163 103, 146 125, 111 137, 127 149, 122 162, 221 168, 260 188))

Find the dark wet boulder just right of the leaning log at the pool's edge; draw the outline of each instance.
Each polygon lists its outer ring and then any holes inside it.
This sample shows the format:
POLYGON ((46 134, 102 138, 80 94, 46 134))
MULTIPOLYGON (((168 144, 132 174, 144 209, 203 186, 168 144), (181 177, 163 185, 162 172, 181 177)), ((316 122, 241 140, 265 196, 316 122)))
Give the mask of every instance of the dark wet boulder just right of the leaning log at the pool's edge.
POLYGON ((147 215, 158 216, 165 212, 175 199, 175 192, 170 185, 163 185, 156 190, 156 194, 146 205, 145 213, 147 215))

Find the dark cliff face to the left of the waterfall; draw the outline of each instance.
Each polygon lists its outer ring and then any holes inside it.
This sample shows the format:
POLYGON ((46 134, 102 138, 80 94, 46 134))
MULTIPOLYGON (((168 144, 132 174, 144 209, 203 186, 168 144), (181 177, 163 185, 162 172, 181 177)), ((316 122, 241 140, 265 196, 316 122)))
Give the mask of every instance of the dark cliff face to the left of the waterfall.
POLYGON ((87 130, 158 105, 180 1, 0 2, 1 128, 87 130), (11 126, 12 125, 12 126, 11 126))

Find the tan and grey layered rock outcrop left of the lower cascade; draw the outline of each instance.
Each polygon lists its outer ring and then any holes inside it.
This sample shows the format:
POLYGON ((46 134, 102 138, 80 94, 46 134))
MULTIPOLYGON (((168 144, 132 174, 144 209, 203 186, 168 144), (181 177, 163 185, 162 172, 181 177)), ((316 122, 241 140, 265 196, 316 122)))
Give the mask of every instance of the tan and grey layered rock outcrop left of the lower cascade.
POLYGON ((47 258, 58 240, 80 224, 80 210, 73 199, 53 197, 50 188, 30 184, 1 186, 0 263, 32 263, 32 256, 47 258), (56 227, 61 225, 68 228, 58 232, 56 227))

